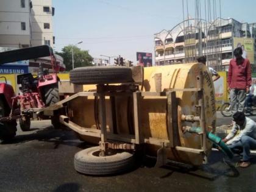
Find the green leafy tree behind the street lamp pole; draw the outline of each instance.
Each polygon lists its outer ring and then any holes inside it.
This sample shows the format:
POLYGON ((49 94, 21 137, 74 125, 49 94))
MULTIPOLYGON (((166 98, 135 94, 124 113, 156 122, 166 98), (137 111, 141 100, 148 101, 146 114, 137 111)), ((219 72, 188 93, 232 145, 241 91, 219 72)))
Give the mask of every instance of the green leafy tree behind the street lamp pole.
POLYGON ((63 57, 63 63, 66 65, 66 71, 72 69, 72 48, 74 51, 74 68, 80 66, 91 66, 93 57, 88 53, 88 51, 81 50, 77 46, 68 45, 62 48, 62 52, 55 52, 55 54, 63 57))

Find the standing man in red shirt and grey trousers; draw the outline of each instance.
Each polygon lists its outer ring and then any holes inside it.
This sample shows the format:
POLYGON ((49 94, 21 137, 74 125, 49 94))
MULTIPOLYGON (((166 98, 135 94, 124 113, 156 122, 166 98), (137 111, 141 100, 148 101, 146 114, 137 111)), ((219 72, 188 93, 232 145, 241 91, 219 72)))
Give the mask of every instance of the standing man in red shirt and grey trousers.
POLYGON ((246 92, 252 84, 251 64, 248 59, 242 57, 242 48, 234 50, 235 59, 229 63, 228 83, 230 90, 230 107, 234 114, 236 111, 244 111, 246 92), (238 101, 238 107, 236 102, 238 101))

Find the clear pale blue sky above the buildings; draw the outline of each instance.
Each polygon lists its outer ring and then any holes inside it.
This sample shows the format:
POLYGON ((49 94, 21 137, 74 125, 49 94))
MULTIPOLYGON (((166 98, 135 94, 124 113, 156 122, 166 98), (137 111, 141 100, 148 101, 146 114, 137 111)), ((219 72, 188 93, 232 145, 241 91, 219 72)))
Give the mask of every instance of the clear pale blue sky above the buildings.
MULTIPOLYGON (((201 2, 202 18, 205 1, 215 1, 217 16, 256 23, 255 0, 183 0, 185 18, 194 18, 195 1, 201 2)), ((52 0, 52 4, 56 51, 83 41, 77 46, 95 58, 121 55, 133 63, 136 52, 154 55, 154 34, 183 20, 182 0, 52 0)))

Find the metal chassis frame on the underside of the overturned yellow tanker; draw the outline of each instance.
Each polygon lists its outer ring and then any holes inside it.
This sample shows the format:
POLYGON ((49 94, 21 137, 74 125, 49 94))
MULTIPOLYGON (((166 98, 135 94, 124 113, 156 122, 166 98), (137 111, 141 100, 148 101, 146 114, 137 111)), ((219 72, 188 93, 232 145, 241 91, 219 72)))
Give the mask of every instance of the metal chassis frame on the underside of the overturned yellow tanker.
MULTIPOLYGON (((54 116, 56 110, 63 108, 63 104, 71 101, 77 97, 88 97, 88 96, 98 96, 99 97, 99 118, 101 119, 101 129, 91 129, 87 127, 81 127, 78 124, 70 121, 69 117, 66 115, 60 115, 60 123, 79 133, 80 135, 86 135, 91 137, 101 138, 99 146, 101 147, 101 155, 104 156, 107 148, 111 149, 136 149, 140 144, 154 144, 160 147, 157 151, 157 166, 162 166, 166 164, 166 152, 165 148, 174 148, 177 151, 191 152, 194 154, 206 154, 206 127, 205 127, 205 105, 204 105, 204 88, 202 72, 197 78, 197 88, 184 88, 184 89, 168 89, 162 92, 141 92, 138 90, 138 85, 97 85, 97 91, 93 92, 79 92, 69 96, 66 99, 58 102, 55 105, 44 108, 44 115, 54 116), (126 90, 124 93, 120 93, 115 90, 126 90), (130 91, 130 92, 127 92, 130 91), (176 91, 196 91, 198 93, 199 104, 196 106, 200 109, 200 116, 192 115, 181 115, 178 117, 178 106, 176 91), (106 105, 105 105, 105 96, 120 96, 122 94, 130 94, 133 98, 133 126, 135 128, 134 135, 120 135, 111 132, 107 132, 106 127, 106 105), (140 133, 140 99, 144 96, 163 96, 167 97, 167 116, 168 116, 168 140, 162 140, 158 138, 143 138, 140 133), (201 135, 201 149, 194 148, 185 148, 179 146, 179 130, 178 130, 178 118, 182 121, 199 121, 200 127, 202 127, 201 135), (172 129, 173 127, 173 129, 172 129), (109 141, 112 140, 112 141, 109 141), (118 141, 118 142, 113 142, 118 141)), ((207 161, 205 156, 205 161, 207 161)))

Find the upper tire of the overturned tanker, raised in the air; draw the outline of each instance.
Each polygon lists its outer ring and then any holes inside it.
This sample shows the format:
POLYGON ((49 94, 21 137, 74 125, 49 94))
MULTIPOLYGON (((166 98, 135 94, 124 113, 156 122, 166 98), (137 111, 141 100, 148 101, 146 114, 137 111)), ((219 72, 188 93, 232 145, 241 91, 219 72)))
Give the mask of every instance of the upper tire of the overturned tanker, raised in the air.
POLYGON ((87 66, 70 71, 73 84, 118 84, 133 82, 132 69, 125 66, 87 66))

